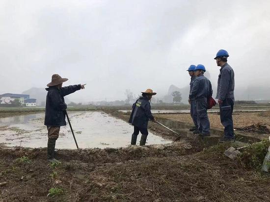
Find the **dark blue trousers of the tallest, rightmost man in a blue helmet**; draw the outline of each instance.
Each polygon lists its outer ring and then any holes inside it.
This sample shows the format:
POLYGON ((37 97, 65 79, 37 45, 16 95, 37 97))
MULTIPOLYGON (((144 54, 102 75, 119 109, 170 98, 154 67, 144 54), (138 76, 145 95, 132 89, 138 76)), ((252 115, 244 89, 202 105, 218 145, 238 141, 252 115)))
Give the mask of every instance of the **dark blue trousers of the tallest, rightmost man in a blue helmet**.
POLYGON ((224 126, 224 137, 234 138, 234 123, 233 123, 234 99, 227 98, 219 105, 220 121, 224 126))

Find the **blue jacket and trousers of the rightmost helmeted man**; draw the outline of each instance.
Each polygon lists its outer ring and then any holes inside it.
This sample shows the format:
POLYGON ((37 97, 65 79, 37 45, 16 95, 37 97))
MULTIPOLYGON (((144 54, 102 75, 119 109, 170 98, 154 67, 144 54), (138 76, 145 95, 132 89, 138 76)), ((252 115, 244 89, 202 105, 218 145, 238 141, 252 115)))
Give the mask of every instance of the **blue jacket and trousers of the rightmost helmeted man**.
POLYGON ((219 105, 220 121, 224 126, 224 137, 234 139, 233 108, 234 108, 234 71, 228 63, 220 68, 217 80, 216 99, 222 100, 219 105))

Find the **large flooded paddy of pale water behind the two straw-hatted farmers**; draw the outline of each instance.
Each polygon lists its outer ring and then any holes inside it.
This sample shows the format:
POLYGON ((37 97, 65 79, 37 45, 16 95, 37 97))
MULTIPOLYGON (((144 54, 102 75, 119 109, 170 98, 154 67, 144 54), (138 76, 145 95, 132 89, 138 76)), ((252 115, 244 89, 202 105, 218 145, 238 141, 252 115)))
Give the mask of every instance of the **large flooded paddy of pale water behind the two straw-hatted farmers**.
MULTIPOLYGON (((130 144, 133 126, 100 111, 70 112, 69 117, 80 148, 117 148, 130 144)), ((137 145, 140 134, 137 138, 137 145)), ((0 118, 0 142, 7 146, 47 147, 44 113, 0 118)), ((149 132, 147 145, 170 143, 149 132)), ((55 148, 76 149, 70 127, 60 128, 55 148)))

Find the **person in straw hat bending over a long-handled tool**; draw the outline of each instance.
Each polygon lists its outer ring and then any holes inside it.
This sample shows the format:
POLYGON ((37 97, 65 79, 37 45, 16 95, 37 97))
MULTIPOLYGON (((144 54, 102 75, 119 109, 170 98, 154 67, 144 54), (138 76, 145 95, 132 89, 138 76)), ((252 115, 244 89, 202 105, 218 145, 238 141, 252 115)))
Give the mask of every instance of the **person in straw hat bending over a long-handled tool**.
POLYGON ((132 113, 130 116, 129 123, 134 126, 134 133, 131 137, 131 144, 135 145, 137 141, 137 136, 139 132, 141 133, 140 138, 140 146, 145 145, 148 130, 147 125, 149 119, 155 121, 154 116, 151 113, 151 105, 150 100, 153 95, 157 93, 153 93, 152 89, 147 89, 145 92, 141 92, 142 97, 140 97, 132 106, 132 113))

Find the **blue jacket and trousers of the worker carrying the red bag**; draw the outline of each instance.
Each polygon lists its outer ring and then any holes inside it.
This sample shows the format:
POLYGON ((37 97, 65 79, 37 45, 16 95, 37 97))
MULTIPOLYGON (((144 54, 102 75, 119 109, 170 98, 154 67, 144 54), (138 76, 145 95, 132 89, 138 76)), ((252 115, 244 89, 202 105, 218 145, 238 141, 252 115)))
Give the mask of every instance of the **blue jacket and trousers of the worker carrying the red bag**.
POLYGON ((211 82, 203 75, 197 76, 194 80, 189 99, 194 99, 197 112, 198 131, 202 135, 210 134, 210 122, 207 115, 207 100, 212 96, 211 82))

